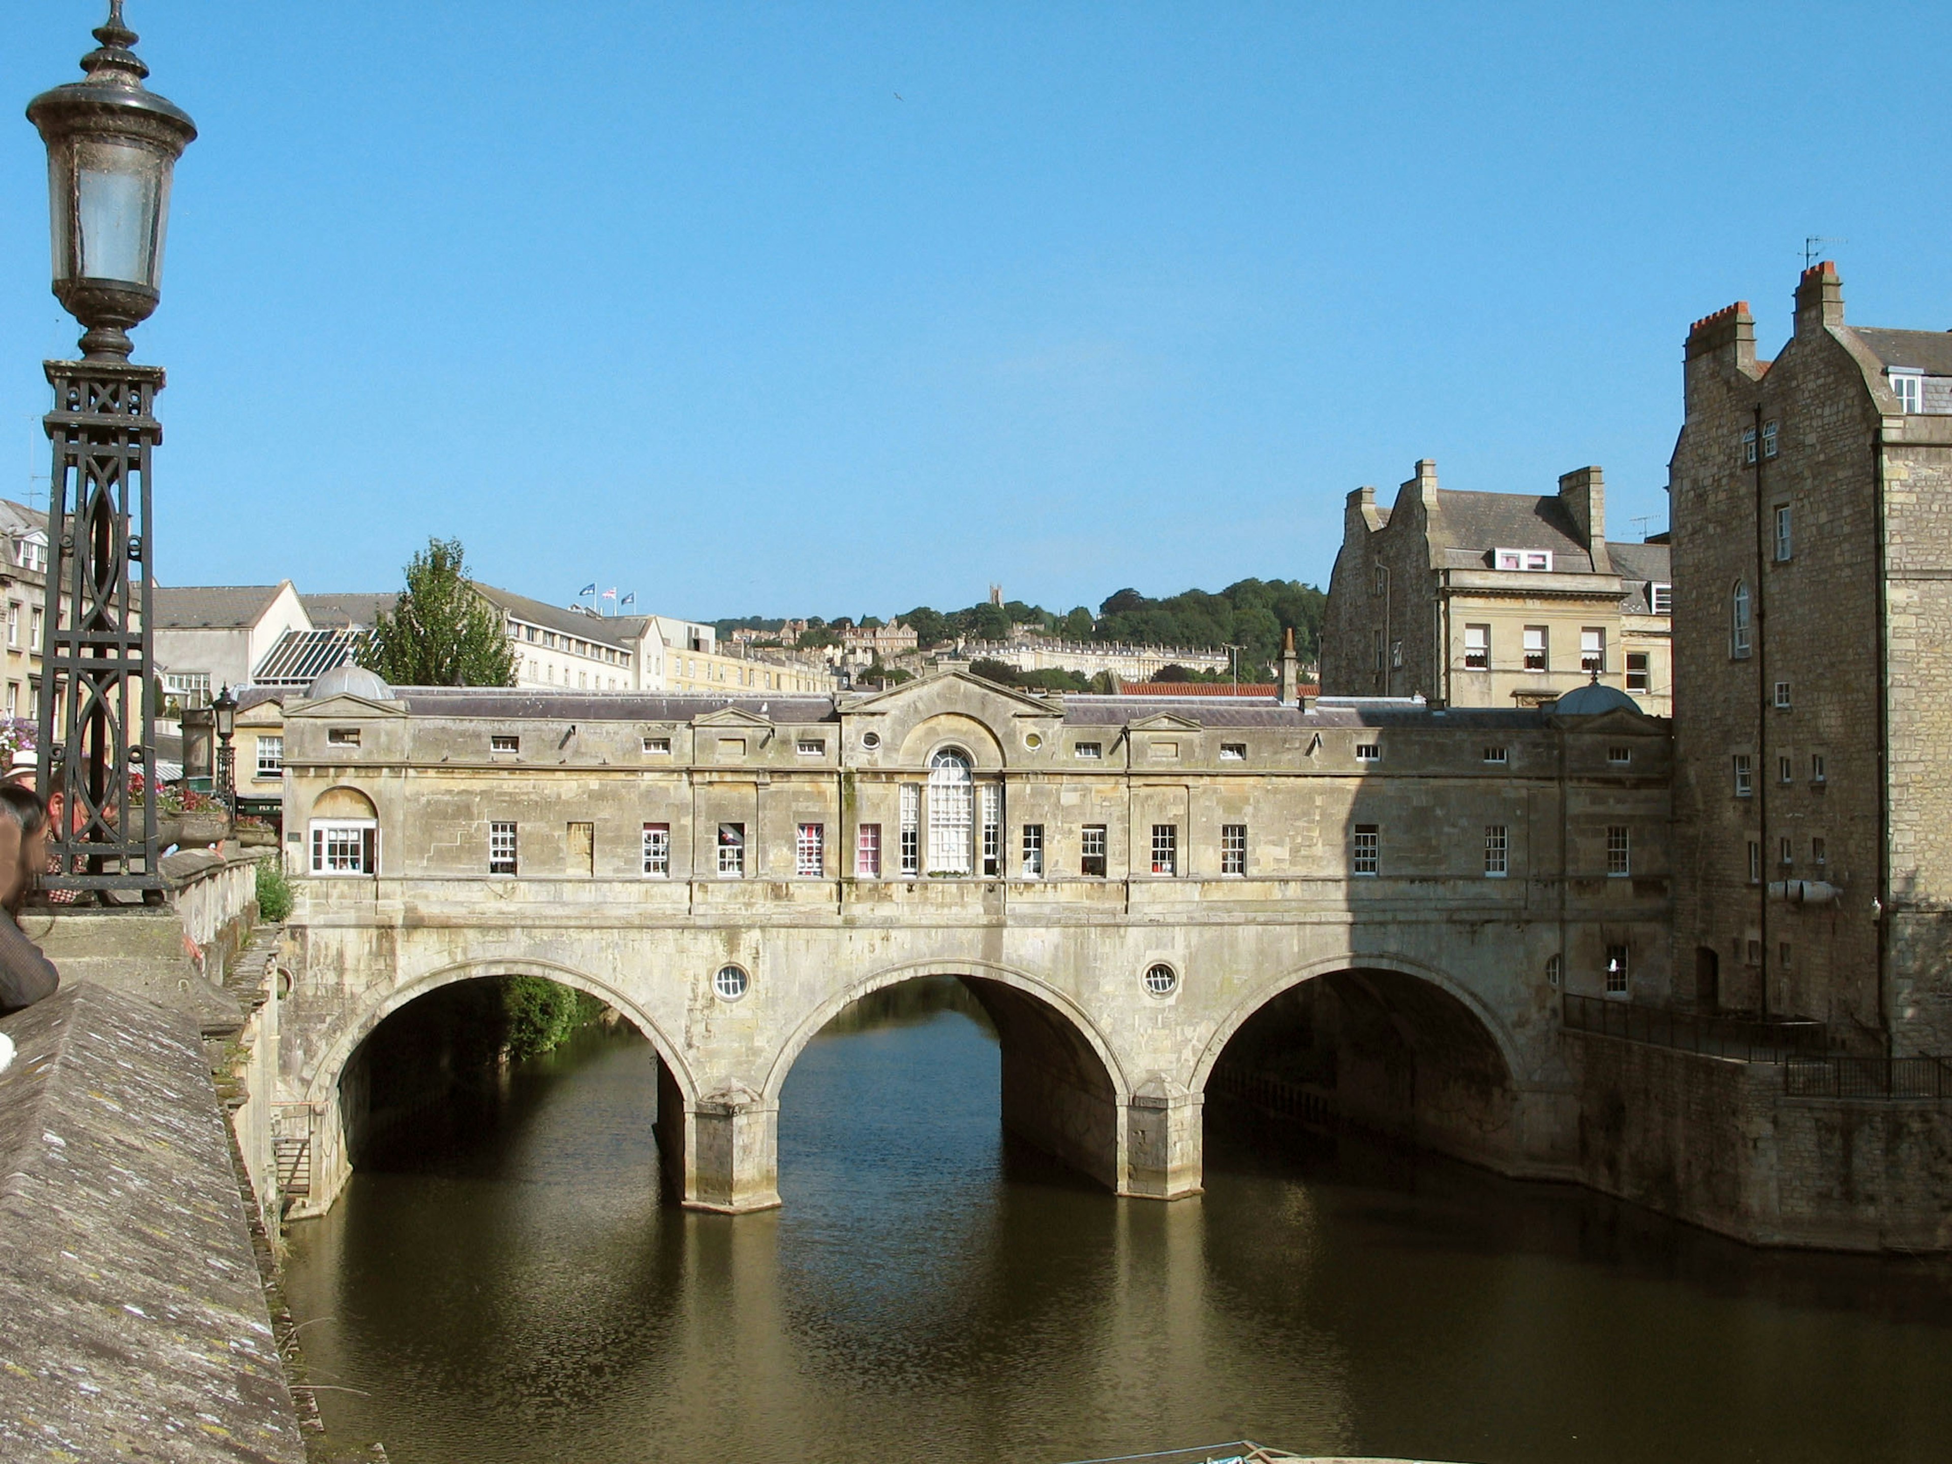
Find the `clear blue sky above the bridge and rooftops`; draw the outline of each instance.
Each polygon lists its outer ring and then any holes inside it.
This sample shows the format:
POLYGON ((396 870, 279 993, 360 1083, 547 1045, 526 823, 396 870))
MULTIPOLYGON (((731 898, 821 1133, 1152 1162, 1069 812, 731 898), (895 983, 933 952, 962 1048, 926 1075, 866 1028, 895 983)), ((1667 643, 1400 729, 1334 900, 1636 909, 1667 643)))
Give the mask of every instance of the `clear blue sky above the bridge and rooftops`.
MULTIPOLYGON (((0 20, 16 107, 105 6, 0 20)), ((1952 8, 129 0, 201 127, 158 576, 675 615, 1327 584, 1341 502, 1606 468, 1681 340, 1952 324, 1952 8)), ((16 111, 16 117, 20 113, 16 111)), ((43 502, 43 152, 0 133, 0 494, 43 502)))

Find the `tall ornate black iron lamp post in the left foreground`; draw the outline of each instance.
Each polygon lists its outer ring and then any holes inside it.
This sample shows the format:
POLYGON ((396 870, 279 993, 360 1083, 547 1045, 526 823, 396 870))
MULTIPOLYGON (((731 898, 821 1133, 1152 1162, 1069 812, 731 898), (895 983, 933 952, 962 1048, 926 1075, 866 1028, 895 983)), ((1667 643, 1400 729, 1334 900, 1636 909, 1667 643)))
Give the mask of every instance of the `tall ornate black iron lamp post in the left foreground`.
POLYGON ((129 326, 156 308, 170 172, 197 129, 142 86, 137 35, 109 0, 86 76, 27 103, 47 142, 55 297, 88 334, 80 361, 47 361, 55 445, 41 642, 41 793, 68 890, 160 898, 156 800, 131 824, 133 763, 154 765, 150 681, 150 451, 162 441, 162 369, 129 363, 129 326), (66 691, 66 695, 62 695, 66 691), (55 787, 59 767, 59 787, 55 787))

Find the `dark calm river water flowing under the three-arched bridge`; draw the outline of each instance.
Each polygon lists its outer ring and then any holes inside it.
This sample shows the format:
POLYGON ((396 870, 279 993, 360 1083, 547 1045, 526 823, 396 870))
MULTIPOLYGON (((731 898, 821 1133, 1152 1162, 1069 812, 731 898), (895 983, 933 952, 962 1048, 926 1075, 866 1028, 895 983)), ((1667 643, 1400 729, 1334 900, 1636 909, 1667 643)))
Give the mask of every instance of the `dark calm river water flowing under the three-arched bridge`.
POLYGON ((1007 1146, 955 984, 781 1099, 785 1208, 658 1199, 650 1050, 593 1031, 293 1228, 336 1441, 394 1464, 1058 1460, 1249 1437, 1439 1460, 1952 1458, 1952 1271, 1749 1251, 1579 1191, 1210 1111, 1206 1193, 1007 1146))

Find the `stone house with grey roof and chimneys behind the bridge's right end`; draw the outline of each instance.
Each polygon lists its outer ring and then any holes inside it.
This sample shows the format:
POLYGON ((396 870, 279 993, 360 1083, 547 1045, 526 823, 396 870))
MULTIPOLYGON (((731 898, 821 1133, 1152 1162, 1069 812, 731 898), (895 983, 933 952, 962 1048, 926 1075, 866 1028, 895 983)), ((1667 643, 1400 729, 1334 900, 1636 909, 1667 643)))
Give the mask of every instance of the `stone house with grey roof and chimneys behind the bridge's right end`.
POLYGON ((1349 494, 1322 630, 1322 689, 1452 707, 1542 707, 1597 673, 1646 711, 1671 699, 1665 543, 1608 543, 1599 468, 1558 494, 1349 494))

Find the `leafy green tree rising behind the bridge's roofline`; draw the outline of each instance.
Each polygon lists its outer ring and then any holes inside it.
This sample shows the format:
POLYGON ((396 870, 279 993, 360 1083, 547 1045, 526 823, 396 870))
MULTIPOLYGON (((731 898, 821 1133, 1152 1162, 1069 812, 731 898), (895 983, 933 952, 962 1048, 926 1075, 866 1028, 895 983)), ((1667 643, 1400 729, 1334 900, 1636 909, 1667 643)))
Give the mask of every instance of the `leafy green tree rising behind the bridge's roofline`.
POLYGON ((459 539, 429 539, 406 590, 381 611, 359 664, 400 687, 511 687, 515 652, 502 617, 468 582, 459 539))

